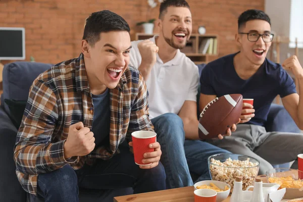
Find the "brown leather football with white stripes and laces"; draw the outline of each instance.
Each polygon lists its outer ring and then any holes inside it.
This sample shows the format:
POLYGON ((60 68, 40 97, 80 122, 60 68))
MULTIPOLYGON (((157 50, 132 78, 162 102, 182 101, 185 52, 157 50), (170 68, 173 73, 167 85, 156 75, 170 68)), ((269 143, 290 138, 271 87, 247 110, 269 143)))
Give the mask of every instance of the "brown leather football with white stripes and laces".
POLYGON ((239 121, 243 107, 241 94, 227 94, 212 100, 200 114, 199 138, 211 139, 239 121))

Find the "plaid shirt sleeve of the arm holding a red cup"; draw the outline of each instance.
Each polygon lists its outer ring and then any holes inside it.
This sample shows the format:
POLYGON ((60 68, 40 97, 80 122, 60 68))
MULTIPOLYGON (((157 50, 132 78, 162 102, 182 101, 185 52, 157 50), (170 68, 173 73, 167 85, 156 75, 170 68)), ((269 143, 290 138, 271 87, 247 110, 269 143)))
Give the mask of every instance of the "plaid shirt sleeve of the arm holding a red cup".
POLYGON ((131 141, 131 133, 138 130, 154 131, 154 126, 151 124, 148 114, 148 92, 141 74, 138 77, 137 94, 131 109, 127 141, 131 141))

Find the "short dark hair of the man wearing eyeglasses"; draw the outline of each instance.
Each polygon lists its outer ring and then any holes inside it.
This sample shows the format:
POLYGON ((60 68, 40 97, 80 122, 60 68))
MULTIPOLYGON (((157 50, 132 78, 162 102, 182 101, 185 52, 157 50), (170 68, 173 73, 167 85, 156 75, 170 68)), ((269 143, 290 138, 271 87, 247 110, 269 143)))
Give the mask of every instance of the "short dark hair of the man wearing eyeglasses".
POLYGON ((238 29, 240 29, 240 27, 245 25, 245 23, 250 20, 264 20, 270 24, 270 18, 266 13, 264 13, 263 11, 260 11, 260 10, 251 9, 251 10, 244 11, 239 16, 238 29))

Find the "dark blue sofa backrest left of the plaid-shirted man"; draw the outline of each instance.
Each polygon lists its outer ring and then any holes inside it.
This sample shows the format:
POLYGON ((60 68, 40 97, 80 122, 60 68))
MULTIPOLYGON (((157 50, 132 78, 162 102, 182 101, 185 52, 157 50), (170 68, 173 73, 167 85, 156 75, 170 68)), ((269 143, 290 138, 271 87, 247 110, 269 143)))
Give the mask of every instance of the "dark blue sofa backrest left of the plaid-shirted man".
POLYGON ((4 66, 1 105, 9 115, 9 108, 4 99, 27 100, 34 79, 52 66, 36 62, 14 62, 4 66))

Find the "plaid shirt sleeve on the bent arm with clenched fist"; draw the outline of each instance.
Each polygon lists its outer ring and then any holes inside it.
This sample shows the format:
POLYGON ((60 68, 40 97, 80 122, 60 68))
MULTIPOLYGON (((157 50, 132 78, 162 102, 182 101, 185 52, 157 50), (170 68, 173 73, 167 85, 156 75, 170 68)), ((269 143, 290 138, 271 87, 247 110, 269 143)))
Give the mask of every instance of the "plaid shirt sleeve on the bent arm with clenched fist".
POLYGON ((14 160, 20 172, 45 173, 68 163, 63 153, 65 140, 51 143, 59 117, 58 102, 50 87, 34 81, 15 144, 14 160))

